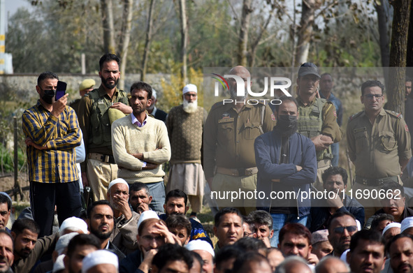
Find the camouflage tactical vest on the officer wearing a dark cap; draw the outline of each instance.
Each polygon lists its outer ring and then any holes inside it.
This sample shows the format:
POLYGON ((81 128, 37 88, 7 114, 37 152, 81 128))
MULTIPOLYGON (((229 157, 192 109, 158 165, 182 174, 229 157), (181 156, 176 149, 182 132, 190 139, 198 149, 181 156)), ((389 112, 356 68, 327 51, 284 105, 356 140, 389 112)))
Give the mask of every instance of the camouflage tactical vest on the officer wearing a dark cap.
MULTIPOLYGON (((298 133, 305 135, 307 138, 314 138, 321 134, 321 127, 323 126, 323 116, 321 115, 321 112, 324 104, 326 104, 324 98, 316 98, 316 101, 311 107, 298 108, 298 133)), ((333 158, 331 147, 322 151, 317 151, 317 161, 324 158, 333 158)))

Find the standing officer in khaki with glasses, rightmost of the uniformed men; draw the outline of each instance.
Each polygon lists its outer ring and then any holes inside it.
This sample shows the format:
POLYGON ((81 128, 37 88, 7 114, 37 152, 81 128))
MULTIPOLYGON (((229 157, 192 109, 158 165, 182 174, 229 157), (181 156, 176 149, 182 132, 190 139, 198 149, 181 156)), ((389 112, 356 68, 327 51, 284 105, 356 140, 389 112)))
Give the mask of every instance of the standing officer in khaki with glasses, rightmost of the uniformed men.
POLYGON ((377 195, 381 186, 401 183, 400 173, 412 157, 409 129, 400 114, 383 109, 383 91, 378 80, 364 82, 360 99, 365 110, 347 124, 349 157, 356 166, 353 195, 365 207, 365 219, 382 207, 377 195), (377 198, 368 198, 367 193, 377 198))

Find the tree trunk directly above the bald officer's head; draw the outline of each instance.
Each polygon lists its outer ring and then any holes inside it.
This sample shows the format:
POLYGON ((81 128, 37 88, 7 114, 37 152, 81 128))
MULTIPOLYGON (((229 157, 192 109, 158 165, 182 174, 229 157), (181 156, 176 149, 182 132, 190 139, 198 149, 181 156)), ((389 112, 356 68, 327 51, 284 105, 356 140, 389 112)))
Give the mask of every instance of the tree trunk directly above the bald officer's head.
POLYGON ((247 66, 248 30, 252 13, 251 3, 252 0, 244 0, 242 3, 240 37, 238 39, 238 65, 240 66, 247 66))

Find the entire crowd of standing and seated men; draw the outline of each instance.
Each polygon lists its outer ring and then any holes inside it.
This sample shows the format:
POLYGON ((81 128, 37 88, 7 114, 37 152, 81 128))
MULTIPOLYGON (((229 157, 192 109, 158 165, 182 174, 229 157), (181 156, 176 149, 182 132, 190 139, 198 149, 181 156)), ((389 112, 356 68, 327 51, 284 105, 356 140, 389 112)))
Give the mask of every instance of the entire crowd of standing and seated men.
POLYGON ((233 103, 207 114, 187 84, 166 114, 150 84, 117 89, 119 63, 104 54, 101 85, 83 81, 71 107, 68 94, 56 97, 58 76, 39 75, 38 102, 22 117, 31 212, 8 230, 11 200, 0 194, 0 272, 412 272, 401 177, 413 170, 409 122, 384 110, 381 82, 361 85, 364 110, 347 123, 349 192, 338 167, 342 103, 333 75, 314 64, 298 69, 297 97, 278 92, 273 110, 247 103, 238 89, 251 75, 236 66, 226 80, 233 103), (268 195, 212 200, 213 244, 196 217, 204 180, 215 196, 268 195))

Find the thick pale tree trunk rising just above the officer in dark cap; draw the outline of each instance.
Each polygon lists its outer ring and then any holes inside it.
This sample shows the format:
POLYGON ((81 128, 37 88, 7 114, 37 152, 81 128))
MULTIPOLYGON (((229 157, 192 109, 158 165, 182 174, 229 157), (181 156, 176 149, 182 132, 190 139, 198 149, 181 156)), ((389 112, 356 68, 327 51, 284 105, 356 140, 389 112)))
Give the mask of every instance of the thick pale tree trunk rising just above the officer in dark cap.
POLYGON ((298 43, 296 52, 296 64, 300 66, 308 59, 310 41, 312 36, 312 24, 314 24, 314 11, 321 6, 319 0, 303 0, 300 27, 298 28, 298 43))

